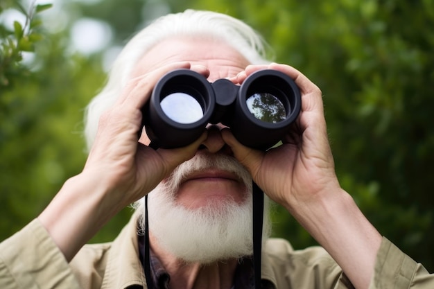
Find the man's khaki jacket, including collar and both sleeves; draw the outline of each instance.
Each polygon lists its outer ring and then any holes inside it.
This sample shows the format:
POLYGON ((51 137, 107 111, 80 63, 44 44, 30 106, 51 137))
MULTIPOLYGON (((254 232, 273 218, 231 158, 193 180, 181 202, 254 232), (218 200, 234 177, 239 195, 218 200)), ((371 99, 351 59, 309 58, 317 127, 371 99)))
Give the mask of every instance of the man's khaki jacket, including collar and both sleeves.
MULTIPOLYGON (((112 243, 86 245, 71 263, 40 222, 33 220, 0 243, 0 288, 146 288, 138 256, 135 218, 112 243)), ((352 288, 324 249, 294 250, 282 239, 267 241, 261 277, 276 288, 352 288)), ((434 277, 384 238, 370 285, 374 288, 432 289, 434 277)))

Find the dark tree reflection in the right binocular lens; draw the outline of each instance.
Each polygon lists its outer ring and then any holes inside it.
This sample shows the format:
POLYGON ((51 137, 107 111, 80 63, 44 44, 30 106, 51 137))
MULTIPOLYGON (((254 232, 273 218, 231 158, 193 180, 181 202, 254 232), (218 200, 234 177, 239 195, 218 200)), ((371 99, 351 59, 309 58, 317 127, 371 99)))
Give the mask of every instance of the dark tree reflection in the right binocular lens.
POLYGON ((286 110, 279 98, 272 94, 253 94, 246 101, 249 111, 255 118, 266 123, 279 123, 286 119, 286 110))

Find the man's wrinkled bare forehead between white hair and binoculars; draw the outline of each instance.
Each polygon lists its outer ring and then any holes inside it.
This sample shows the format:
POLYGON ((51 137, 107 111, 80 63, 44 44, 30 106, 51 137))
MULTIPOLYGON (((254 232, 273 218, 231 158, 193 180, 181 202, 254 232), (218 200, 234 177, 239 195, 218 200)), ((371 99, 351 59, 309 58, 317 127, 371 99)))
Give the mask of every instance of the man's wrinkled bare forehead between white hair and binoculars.
POLYGON ((164 64, 188 61, 209 69, 209 80, 236 76, 248 64, 241 53, 223 41, 199 37, 173 37, 159 42, 137 63, 132 76, 157 69, 164 64))

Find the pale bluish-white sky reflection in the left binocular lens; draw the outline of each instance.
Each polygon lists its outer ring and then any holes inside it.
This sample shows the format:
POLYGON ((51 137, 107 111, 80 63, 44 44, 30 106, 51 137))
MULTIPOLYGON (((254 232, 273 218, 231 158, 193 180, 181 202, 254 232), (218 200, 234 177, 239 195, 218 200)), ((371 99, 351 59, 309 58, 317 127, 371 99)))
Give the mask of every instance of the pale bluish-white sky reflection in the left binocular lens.
POLYGON ((198 100, 183 92, 169 94, 160 105, 166 116, 177 123, 194 123, 203 116, 198 100))

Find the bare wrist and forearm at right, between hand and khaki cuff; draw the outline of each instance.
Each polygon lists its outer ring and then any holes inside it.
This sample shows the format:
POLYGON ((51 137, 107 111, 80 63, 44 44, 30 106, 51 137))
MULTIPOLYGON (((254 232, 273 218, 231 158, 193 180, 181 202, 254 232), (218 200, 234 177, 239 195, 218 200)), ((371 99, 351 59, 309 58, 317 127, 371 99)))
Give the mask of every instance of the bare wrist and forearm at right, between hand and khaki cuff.
POLYGON ((343 189, 316 195, 291 213, 329 252, 356 288, 367 288, 381 235, 343 189), (357 260, 357 262, 354 262, 357 260))

